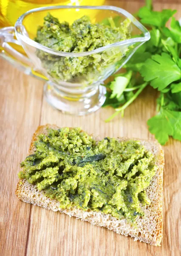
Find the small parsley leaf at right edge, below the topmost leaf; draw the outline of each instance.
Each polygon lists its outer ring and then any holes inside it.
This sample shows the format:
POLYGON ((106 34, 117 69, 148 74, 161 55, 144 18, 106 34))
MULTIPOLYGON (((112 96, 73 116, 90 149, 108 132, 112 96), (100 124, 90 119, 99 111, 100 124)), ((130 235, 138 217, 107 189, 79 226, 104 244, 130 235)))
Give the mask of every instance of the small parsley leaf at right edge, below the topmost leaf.
POLYGON ((178 20, 175 20, 175 17, 172 17, 170 29, 164 27, 163 32, 167 37, 173 38, 175 42, 181 43, 181 26, 178 20))

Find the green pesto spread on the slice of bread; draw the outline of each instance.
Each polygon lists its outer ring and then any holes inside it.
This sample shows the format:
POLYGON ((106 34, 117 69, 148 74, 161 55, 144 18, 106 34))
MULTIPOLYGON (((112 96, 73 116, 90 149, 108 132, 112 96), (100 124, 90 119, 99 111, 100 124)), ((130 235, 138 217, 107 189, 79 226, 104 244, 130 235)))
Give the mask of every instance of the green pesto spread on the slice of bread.
POLYGON ((139 141, 96 143, 80 128, 48 129, 21 163, 20 179, 36 184, 61 208, 77 206, 134 221, 149 205, 145 189, 156 173, 154 157, 139 141))

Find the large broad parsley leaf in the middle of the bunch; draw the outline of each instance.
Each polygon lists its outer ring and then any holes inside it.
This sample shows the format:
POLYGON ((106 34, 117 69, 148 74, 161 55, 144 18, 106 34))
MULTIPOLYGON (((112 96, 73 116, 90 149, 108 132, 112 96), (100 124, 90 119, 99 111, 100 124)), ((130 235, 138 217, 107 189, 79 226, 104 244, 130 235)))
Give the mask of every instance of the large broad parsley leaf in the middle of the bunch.
POLYGON ((144 77, 144 81, 150 81, 150 85, 160 91, 181 78, 181 69, 165 52, 147 59, 141 67, 140 73, 144 77))

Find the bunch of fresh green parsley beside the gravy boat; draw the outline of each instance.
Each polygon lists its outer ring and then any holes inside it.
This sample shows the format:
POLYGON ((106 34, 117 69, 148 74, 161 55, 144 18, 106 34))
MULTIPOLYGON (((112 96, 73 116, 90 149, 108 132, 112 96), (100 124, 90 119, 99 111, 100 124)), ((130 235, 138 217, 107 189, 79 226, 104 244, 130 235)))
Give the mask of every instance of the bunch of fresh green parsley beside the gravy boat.
POLYGON ((103 106, 116 112, 106 122, 129 106, 148 85, 160 92, 156 115, 147 121, 149 131, 164 145, 169 136, 181 141, 181 25, 173 15, 176 10, 152 10, 150 0, 137 16, 150 30, 150 41, 143 44, 124 66, 125 73, 114 75, 107 84, 103 106), (166 23, 171 19, 170 29, 166 23))

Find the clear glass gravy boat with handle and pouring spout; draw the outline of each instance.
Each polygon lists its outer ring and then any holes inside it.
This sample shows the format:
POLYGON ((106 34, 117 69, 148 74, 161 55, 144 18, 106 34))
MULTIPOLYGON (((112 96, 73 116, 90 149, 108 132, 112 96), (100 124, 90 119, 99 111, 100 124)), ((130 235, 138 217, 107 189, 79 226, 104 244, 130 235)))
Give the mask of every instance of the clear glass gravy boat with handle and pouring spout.
POLYGON ((136 49, 149 39, 150 33, 147 29, 129 12, 118 7, 48 6, 32 9, 21 15, 14 27, 0 29, 0 55, 25 74, 45 80, 44 95, 54 108, 64 113, 84 115, 96 111, 104 104, 106 88, 102 84, 105 79, 119 70, 136 49), (101 23, 110 17, 113 20, 120 18, 121 21, 128 18, 132 36, 130 39, 92 51, 57 51, 34 41, 37 26, 42 26, 43 18, 48 12, 58 17, 60 22, 65 20, 69 23, 74 21, 72 17, 75 17, 75 12, 76 19, 88 15, 92 23, 101 23), (41 55, 44 58, 41 58, 41 55), (104 65, 101 59, 100 69, 92 65, 86 74, 80 71, 79 76, 75 76, 72 73, 71 61, 72 65, 77 63, 79 67, 79 63, 103 58, 104 55, 111 56, 111 61, 104 65), (70 66, 66 66, 66 70, 62 71, 61 65, 65 65, 67 60, 70 66))

